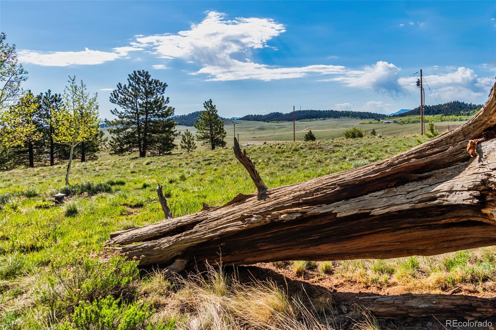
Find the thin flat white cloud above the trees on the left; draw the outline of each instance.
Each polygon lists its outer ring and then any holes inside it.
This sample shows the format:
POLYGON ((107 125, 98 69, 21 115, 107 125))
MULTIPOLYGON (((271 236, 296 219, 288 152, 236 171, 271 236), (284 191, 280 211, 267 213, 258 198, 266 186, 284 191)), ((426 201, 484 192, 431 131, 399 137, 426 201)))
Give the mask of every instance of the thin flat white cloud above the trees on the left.
POLYGON ((127 56, 129 51, 142 50, 139 47, 118 47, 114 52, 91 50, 50 51, 19 50, 19 61, 43 66, 94 65, 113 61, 127 56))

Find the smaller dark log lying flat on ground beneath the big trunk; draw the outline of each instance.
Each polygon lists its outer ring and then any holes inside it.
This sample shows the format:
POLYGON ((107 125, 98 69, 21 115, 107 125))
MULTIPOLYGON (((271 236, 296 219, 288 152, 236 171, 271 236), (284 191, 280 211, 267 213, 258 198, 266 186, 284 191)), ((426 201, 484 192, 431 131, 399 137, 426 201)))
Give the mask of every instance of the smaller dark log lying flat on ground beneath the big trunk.
POLYGON ((496 314, 496 299, 450 294, 402 294, 360 297, 377 318, 449 319, 453 316, 474 320, 496 314))

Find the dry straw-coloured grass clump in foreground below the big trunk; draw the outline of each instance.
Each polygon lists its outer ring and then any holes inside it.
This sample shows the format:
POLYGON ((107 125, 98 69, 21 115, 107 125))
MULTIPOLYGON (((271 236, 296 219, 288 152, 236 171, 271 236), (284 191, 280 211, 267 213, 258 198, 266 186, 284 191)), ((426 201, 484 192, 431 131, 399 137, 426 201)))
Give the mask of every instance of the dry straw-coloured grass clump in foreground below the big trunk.
MULTIPOLYGON (((151 287, 160 281, 152 279, 149 283, 151 287)), ((209 266, 206 272, 176 277, 173 286, 175 292, 168 291, 167 299, 162 300, 161 315, 177 316, 177 329, 336 329, 318 316, 329 313, 330 299, 316 301, 316 306, 309 303, 309 307, 302 302, 304 292, 289 295, 284 287, 270 281, 241 283, 236 274, 227 276, 222 268, 209 266)))

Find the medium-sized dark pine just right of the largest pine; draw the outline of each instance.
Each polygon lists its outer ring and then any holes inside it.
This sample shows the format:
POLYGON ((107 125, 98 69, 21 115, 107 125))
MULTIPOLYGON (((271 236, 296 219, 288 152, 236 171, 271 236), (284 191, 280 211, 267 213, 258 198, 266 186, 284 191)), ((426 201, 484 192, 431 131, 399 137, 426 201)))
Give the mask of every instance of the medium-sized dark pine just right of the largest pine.
POLYGON ((196 132, 196 139, 201 141, 203 145, 209 145, 212 150, 216 146, 226 146, 224 138, 227 133, 224 130, 224 121, 217 115, 217 109, 212 103, 212 99, 203 102, 203 110, 200 118, 196 119, 196 124, 193 126, 198 130, 196 132))

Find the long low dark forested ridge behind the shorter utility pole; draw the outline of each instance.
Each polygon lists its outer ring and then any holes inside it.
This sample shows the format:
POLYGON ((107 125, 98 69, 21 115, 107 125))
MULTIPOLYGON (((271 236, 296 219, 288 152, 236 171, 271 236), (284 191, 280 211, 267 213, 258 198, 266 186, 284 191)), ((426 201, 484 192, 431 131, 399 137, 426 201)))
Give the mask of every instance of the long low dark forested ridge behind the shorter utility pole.
MULTIPOLYGON (((338 111, 338 110, 298 110, 295 112, 296 120, 312 120, 312 119, 325 119, 325 118, 355 118, 355 119, 370 119, 370 118, 384 118, 386 115, 375 112, 362 112, 362 111, 338 111)), ((271 112, 267 115, 246 115, 241 117, 240 120, 251 121, 292 121, 293 112, 271 112)))

